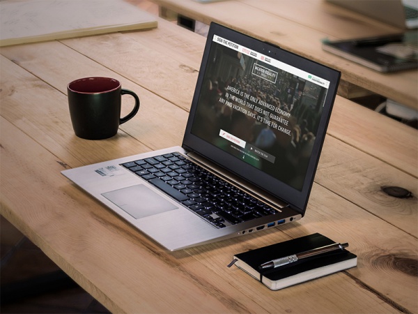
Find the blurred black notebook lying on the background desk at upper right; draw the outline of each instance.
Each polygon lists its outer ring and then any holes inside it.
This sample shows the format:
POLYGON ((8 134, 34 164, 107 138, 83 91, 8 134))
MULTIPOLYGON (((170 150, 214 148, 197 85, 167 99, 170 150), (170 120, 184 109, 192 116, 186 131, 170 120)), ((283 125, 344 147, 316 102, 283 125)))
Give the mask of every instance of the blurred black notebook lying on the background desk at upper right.
POLYGON ((418 67, 416 31, 392 36, 325 40, 323 50, 383 73, 418 67))

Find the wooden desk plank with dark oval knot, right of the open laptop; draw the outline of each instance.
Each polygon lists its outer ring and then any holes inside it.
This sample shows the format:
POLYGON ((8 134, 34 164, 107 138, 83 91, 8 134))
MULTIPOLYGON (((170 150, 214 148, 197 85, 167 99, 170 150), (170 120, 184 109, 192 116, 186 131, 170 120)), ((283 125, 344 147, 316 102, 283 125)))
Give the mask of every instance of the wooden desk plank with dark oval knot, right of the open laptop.
MULTIPOLYGON (((325 140, 316 183, 418 237, 417 197, 396 198, 382 186, 401 186, 418 195, 418 180, 334 137, 325 140)), ((417 242, 418 244, 418 242, 417 242)))

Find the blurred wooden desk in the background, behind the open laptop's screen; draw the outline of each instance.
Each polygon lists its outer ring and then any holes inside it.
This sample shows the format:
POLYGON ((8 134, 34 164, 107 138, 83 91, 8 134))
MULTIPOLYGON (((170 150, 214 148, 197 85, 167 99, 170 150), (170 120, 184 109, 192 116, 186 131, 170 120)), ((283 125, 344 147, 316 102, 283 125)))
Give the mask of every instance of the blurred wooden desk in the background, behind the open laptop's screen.
POLYGON ((321 40, 400 33, 402 30, 353 13, 325 0, 152 0, 193 20, 215 21, 341 70, 339 94, 354 98, 370 92, 418 110, 418 71, 382 74, 324 52, 321 40))

